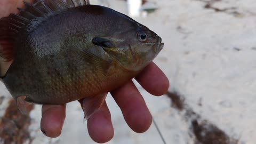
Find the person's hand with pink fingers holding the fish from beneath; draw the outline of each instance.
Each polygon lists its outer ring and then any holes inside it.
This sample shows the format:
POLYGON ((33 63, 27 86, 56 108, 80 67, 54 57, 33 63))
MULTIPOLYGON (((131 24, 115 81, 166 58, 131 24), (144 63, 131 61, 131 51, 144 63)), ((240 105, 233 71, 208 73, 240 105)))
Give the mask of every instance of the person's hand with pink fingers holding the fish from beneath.
MULTIPOLYGON (((6 17, 11 12, 18 13, 17 7, 22 6, 22 0, 1 0, 0 17, 6 17)), ((153 62, 135 79, 146 91, 153 95, 162 95, 169 87, 168 79, 153 62)), ((142 133, 148 130, 152 117, 145 101, 132 81, 110 93, 121 108, 126 123, 133 131, 142 133)), ((41 130, 47 137, 55 138, 61 134, 66 116, 65 112, 66 105, 43 105, 41 130)), ((88 119, 87 129, 90 137, 96 142, 103 143, 113 138, 114 129, 106 102, 100 110, 88 119)))

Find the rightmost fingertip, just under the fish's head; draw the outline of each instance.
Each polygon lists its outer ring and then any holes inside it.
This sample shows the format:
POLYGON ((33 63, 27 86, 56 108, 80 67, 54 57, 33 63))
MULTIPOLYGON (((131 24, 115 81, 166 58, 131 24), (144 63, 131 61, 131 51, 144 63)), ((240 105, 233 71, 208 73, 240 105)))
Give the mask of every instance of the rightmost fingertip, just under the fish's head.
POLYGON ((153 95, 163 95, 169 88, 169 81, 163 71, 151 62, 135 77, 140 85, 153 95))

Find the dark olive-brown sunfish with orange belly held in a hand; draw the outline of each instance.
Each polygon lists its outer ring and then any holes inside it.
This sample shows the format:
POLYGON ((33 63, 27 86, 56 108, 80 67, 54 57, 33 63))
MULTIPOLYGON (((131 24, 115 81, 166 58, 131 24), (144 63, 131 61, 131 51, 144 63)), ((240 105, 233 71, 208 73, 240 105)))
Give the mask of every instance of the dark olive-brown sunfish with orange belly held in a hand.
POLYGON ((21 113, 25 102, 83 99, 88 119, 109 91, 137 76, 164 47, 146 26, 88 0, 24 3, 19 14, 0 19, 1 81, 21 113))

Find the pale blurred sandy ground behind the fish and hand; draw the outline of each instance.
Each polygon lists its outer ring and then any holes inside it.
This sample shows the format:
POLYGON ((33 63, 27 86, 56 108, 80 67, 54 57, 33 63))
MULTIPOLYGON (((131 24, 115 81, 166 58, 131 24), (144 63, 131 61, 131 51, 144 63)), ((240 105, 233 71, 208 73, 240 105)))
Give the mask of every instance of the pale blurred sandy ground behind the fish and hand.
MULTIPOLYGON (((170 80, 169 92, 153 97, 137 85, 166 143, 255 143, 253 0, 91 0, 91 4, 128 14, 162 37, 165 47, 155 63, 170 80)), ((39 127, 41 106, 28 106, 29 116, 19 116, 2 83, 0 89, 0 143, 95 143, 78 102, 68 103, 62 134, 50 139, 39 127)), ((115 130, 109 144, 162 143, 154 125, 135 133, 110 95, 106 101, 115 130)))

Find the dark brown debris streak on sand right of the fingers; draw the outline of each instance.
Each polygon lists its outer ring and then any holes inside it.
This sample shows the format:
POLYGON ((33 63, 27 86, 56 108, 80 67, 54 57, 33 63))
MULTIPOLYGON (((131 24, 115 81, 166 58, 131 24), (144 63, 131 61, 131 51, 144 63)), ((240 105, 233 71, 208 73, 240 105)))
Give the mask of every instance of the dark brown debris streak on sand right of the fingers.
POLYGON ((197 114, 191 107, 185 103, 185 98, 178 92, 167 92, 167 97, 172 100, 172 107, 182 111, 182 115, 187 123, 190 125, 190 132, 195 136, 195 143, 197 144, 237 144, 238 140, 229 137, 219 127, 202 119, 202 116, 197 114))

